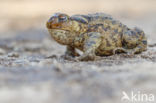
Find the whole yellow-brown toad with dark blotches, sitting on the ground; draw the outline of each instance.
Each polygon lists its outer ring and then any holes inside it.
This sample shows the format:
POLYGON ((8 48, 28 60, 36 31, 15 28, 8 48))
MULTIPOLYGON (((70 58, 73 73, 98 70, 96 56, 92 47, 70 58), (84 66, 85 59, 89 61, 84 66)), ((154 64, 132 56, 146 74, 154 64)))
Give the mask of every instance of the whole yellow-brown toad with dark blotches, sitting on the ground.
POLYGON ((130 29, 104 13, 73 15, 55 13, 46 23, 52 38, 66 45, 66 56, 79 56, 78 60, 94 60, 97 56, 116 53, 136 54, 147 49, 145 33, 130 29))

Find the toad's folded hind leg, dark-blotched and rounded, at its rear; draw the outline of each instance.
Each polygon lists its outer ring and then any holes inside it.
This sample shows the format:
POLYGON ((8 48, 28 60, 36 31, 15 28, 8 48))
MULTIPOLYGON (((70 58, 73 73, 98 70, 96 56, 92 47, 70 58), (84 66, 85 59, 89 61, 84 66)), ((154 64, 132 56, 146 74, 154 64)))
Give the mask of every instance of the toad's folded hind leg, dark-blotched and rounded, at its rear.
POLYGON ((122 39, 123 47, 127 50, 127 53, 137 54, 147 50, 147 38, 139 28, 126 31, 122 39))

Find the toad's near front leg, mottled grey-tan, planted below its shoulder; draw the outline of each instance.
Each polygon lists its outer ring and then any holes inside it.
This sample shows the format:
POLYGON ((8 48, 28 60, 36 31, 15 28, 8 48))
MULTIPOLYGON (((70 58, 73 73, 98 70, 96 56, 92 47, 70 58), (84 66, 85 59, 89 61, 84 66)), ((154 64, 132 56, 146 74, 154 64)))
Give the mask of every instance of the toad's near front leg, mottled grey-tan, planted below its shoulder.
POLYGON ((88 61, 88 60, 94 60, 96 59, 95 51, 101 44, 101 34, 98 32, 90 32, 87 34, 87 37, 85 38, 83 51, 84 54, 78 58, 77 60, 80 61, 88 61))

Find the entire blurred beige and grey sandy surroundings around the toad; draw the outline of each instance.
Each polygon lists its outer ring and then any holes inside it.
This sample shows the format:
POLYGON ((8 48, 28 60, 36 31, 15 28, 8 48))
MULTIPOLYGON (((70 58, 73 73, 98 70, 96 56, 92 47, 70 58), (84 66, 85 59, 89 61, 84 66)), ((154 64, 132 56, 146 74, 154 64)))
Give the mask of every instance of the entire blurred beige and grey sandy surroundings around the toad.
POLYGON ((121 101, 123 92, 156 99, 155 5, 155 0, 0 0, 0 103, 132 103, 121 101), (142 28, 148 50, 89 62, 64 60, 65 47, 45 28, 54 12, 111 14, 142 28))

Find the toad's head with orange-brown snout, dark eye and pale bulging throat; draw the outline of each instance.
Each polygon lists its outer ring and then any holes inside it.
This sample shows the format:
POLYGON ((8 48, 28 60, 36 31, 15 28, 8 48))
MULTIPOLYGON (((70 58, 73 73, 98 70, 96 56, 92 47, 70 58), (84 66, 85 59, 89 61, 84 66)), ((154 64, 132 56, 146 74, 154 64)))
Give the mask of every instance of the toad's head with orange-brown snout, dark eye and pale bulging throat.
POLYGON ((64 45, 70 44, 77 35, 84 32, 84 24, 63 13, 55 13, 50 17, 46 27, 54 40, 64 45))

